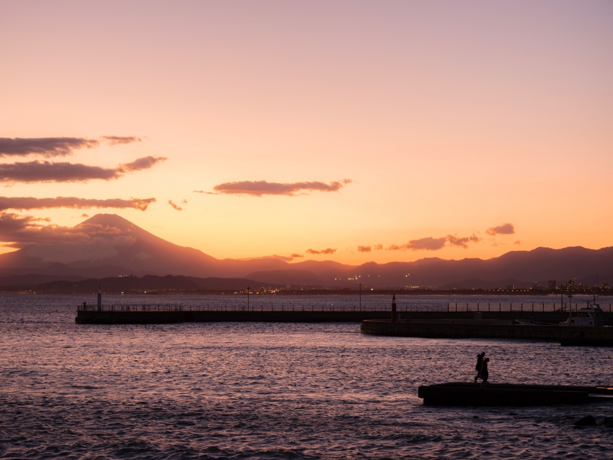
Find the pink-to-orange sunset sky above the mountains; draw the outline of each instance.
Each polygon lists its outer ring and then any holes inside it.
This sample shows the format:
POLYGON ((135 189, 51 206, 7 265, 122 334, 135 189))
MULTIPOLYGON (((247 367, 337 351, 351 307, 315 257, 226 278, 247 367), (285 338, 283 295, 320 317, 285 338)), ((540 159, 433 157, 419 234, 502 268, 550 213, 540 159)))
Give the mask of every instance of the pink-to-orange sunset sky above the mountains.
POLYGON ((104 212, 216 258, 611 246, 612 25, 608 0, 0 0, 0 239, 104 212))

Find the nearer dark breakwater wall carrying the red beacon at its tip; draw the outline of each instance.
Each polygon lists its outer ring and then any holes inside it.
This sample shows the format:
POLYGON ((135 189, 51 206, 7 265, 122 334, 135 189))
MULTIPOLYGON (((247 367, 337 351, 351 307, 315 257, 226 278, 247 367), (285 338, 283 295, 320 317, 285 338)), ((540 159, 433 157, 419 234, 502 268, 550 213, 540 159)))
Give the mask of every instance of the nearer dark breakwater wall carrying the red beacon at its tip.
POLYGON ((613 328, 591 326, 544 326, 495 323, 453 323, 434 321, 364 320, 364 334, 393 337, 425 337, 429 339, 543 339, 566 337, 613 337, 613 328))

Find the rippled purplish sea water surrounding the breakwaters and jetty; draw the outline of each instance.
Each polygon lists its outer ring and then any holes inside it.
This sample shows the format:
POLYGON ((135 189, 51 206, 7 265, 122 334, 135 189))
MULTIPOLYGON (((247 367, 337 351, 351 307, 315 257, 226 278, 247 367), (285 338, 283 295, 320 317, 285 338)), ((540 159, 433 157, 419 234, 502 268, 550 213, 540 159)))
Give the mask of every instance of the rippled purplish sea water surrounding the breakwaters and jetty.
MULTIPOLYGON (((399 304, 460 300, 473 302, 399 304)), ((94 299, 0 296, 0 458, 613 458, 613 429, 572 425, 613 415, 613 403, 435 408, 417 398, 421 384, 470 381, 480 351, 492 382, 613 385, 611 348, 375 337, 358 323, 75 324, 83 301, 94 299)), ((357 299, 309 299, 337 301, 357 299)))

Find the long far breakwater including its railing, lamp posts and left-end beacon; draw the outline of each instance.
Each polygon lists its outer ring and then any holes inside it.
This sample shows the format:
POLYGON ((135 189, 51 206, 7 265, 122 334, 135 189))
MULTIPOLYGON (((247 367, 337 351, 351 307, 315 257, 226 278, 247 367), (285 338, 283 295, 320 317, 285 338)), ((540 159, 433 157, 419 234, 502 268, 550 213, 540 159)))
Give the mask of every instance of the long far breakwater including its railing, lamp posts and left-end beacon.
MULTIPOLYGON (((541 321, 557 324, 568 318, 563 304, 447 304, 447 305, 403 305, 397 308, 395 296, 392 305, 278 305, 258 302, 229 304, 206 303, 200 305, 180 304, 102 304, 102 292, 98 289, 96 305, 77 306, 77 324, 165 324, 184 322, 267 322, 267 323, 337 323, 362 321, 362 332, 379 335, 405 335, 410 337, 430 337, 431 335, 411 335, 406 326, 390 326, 389 319, 398 320, 395 324, 414 324, 430 322, 433 324, 500 324, 512 326, 516 320, 541 321), (557 309, 559 307, 559 309, 557 309), (378 321, 364 323, 364 321, 378 321)), ((570 308, 570 305, 568 305, 570 308)), ((577 308, 577 305, 575 305, 577 308)), ((613 320, 613 313, 605 313, 607 321, 613 320)), ((427 326, 424 326, 427 327, 427 326)), ((442 326, 444 327, 444 326, 442 326)), ((468 326, 465 326, 468 327, 468 326)), ((411 326, 409 326, 409 329, 411 326)), ((572 328, 577 330, 576 328, 572 328)), ((613 329, 613 328, 611 328, 613 329)), ((435 336, 435 335, 432 335, 435 336)))

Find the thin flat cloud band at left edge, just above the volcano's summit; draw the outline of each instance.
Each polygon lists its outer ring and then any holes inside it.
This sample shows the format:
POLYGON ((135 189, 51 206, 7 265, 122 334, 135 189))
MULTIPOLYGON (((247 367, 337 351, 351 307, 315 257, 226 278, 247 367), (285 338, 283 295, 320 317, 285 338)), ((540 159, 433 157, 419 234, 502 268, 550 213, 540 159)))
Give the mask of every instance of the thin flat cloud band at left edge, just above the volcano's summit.
POLYGON ((0 196, 0 211, 7 209, 27 210, 27 209, 50 209, 50 208, 134 208, 144 211, 156 201, 155 198, 131 198, 129 200, 115 199, 88 199, 76 198, 74 196, 58 196, 55 198, 34 198, 32 196, 0 196))

